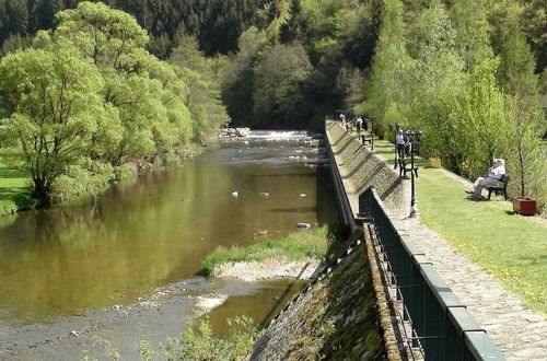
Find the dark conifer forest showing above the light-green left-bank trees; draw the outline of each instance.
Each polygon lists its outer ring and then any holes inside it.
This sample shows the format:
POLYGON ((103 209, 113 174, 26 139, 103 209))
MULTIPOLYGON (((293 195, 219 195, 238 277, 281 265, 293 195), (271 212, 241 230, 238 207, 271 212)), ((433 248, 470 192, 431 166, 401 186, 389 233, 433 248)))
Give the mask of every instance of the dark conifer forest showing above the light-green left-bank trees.
MULTIPOLYGON (((5 0, 0 2, 0 45, 13 36, 22 38, 47 30, 55 24, 55 14, 73 9, 81 0, 5 0)), ((256 24, 256 11, 264 0, 220 0, 203 2, 105 0, 108 7, 132 14, 151 34, 149 49, 166 59, 175 47, 179 30, 196 36, 207 55, 228 54, 236 49, 237 38, 249 25, 256 24)))

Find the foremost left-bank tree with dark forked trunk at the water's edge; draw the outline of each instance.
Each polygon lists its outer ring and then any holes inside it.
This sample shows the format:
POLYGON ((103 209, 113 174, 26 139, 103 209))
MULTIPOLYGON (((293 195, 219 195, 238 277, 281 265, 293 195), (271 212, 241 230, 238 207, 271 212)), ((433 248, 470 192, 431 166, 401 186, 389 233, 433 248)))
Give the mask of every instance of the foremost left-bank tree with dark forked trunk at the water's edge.
POLYGON ((44 202, 56 179, 88 158, 106 116, 103 84, 97 69, 69 44, 12 53, 0 61, 2 145, 21 155, 18 165, 44 202))

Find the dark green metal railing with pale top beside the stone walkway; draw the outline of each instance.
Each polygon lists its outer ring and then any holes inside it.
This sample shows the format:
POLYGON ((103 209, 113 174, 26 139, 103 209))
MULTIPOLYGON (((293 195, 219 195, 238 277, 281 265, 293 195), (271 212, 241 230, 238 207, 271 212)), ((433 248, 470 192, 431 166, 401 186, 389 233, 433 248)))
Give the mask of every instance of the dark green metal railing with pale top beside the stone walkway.
MULTIPOLYGON (((400 317, 411 325, 408 340, 426 360, 505 360, 466 306, 424 260, 396 221, 385 211, 374 188, 359 197, 360 216, 368 221, 400 304, 400 317)), ((457 265, 454 265, 457 267, 457 265)))

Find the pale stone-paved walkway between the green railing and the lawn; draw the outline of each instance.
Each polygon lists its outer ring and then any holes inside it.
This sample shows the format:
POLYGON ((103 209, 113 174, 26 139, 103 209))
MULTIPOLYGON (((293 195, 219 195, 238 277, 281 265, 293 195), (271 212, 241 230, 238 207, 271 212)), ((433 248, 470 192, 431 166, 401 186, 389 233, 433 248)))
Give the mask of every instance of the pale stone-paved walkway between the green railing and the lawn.
MULTIPOLYGON (((344 166, 341 173, 345 173, 344 166)), ((467 182, 452 173, 445 175, 467 182)), ((359 188, 359 185, 345 182, 345 186, 349 188, 349 197, 356 197, 352 189, 359 188)), ((458 254, 441 235, 423 225, 419 218, 401 216, 408 212, 407 208, 391 209, 391 212, 508 360, 547 360, 545 316, 525 308, 519 298, 505 291, 481 267, 458 254)))

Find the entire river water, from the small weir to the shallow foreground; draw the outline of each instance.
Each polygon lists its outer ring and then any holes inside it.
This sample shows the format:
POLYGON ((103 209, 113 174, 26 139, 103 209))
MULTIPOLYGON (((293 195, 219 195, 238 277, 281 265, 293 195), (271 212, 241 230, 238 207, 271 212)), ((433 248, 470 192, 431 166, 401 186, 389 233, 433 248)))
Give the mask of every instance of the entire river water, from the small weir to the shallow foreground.
POLYGON ((183 167, 115 186, 97 201, 1 219, 0 358, 30 347, 24 358, 62 359, 67 333, 86 327, 115 339, 146 324, 144 334, 161 339, 179 330, 170 319, 188 312, 191 295, 211 290, 231 294, 211 314, 213 324, 233 314, 268 316, 289 281, 247 284, 197 271, 218 246, 336 221, 326 154, 316 143, 305 132, 252 132, 183 167), (128 305, 158 301, 159 292, 161 316, 154 307, 120 316, 128 305))

